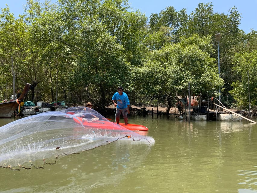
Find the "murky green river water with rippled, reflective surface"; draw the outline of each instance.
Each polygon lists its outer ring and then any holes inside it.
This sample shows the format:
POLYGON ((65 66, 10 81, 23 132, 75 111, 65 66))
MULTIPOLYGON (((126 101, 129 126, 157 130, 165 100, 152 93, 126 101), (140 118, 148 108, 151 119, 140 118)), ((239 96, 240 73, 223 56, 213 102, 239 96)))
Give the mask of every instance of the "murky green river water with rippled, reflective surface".
POLYGON ((0 192, 257 192, 257 124, 156 115, 129 123, 147 126, 155 144, 117 141, 45 169, 0 168, 0 192))

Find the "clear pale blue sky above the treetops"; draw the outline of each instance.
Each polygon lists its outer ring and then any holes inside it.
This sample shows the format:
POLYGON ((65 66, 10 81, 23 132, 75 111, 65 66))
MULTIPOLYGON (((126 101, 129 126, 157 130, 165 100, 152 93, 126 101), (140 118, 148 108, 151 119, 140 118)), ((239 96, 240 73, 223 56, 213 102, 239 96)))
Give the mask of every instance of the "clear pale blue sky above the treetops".
MULTIPOLYGON (((41 0, 43 2, 43 0, 41 0)), ((56 2, 57 0, 52 0, 56 2)), ((251 30, 257 30, 257 0, 128 0, 131 7, 134 10, 139 10, 146 14, 146 17, 150 17, 152 13, 160 13, 161 10, 165 10, 168 6, 173 6, 176 11, 180 11, 185 8, 187 14, 190 14, 195 10, 199 3, 212 2, 213 11, 216 13, 229 14, 230 8, 235 6, 239 13, 241 13, 241 24, 239 29, 245 33, 249 33, 251 30)), ((15 17, 19 14, 23 14, 23 5, 26 4, 26 0, 0 0, 0 8, 5 8, 8 4, 10 11, 15 17)))

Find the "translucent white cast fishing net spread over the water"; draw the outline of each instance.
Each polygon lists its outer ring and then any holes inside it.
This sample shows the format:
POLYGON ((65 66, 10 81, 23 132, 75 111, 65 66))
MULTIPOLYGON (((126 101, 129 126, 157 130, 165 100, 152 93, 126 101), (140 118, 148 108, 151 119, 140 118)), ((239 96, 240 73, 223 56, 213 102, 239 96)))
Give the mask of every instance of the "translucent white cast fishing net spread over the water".
POLYGON ((0 168, 44 168, 63 156, 115 141, 149 145, 155 142, 152 137, 116 125, 87 107, 43 112, 0 128, 0 168))

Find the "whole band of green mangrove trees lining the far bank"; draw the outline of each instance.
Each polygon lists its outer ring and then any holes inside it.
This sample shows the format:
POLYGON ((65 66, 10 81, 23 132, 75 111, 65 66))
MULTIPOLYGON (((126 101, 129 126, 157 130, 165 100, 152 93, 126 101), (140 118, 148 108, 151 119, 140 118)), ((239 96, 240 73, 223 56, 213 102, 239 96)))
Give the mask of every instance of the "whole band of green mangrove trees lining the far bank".
POLYGON ((231 90, 246 106, 248 70, 256 103, 256 31, 238 28, 235 7, 226 15, 200 3, 187 15, 170 6, 151 14, 149 24, 127 0, 27 0, 24 11, 16 19, 6 7, 0 15, 1 98, 13 92, 12 57, 16 89, 37 82, 34 102, 90 100, 103 108, 123 86, 132 103, 170 105, 171 96, 187 93, 190 82, 193 93, 231 90), (221 33, 221 78, 215 33, 221 33))

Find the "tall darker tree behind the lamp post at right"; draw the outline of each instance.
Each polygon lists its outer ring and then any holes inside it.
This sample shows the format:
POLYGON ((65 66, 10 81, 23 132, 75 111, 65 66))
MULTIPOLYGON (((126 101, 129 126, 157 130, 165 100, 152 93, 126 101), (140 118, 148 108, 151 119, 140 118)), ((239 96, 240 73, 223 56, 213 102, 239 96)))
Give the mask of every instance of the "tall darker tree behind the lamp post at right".
MULTIPOLYGON (((217 42, 215 41, 215 34, 221 33, 220 48, 220 72, 221 78, 224 79, 225 93, 231 89, 231 83, 236 80, 232 73, 232 58, 233 55, 240 51, 243 42, 243 32, 239 30, 240 13, 237 8, 233 7, 229 10, 230 14, 218 14, 213 12, 213 5, 211 3, 200 3, 198 7, 190 14, 188 22, 188 35, 197 33, 200 36, 211 35, 212 42, 217 50, 217 42)), ((212 57, 218 58, 217 51, 213 53, 212 57)), ((218 60, 218 59, 217 59, 218 60)))

